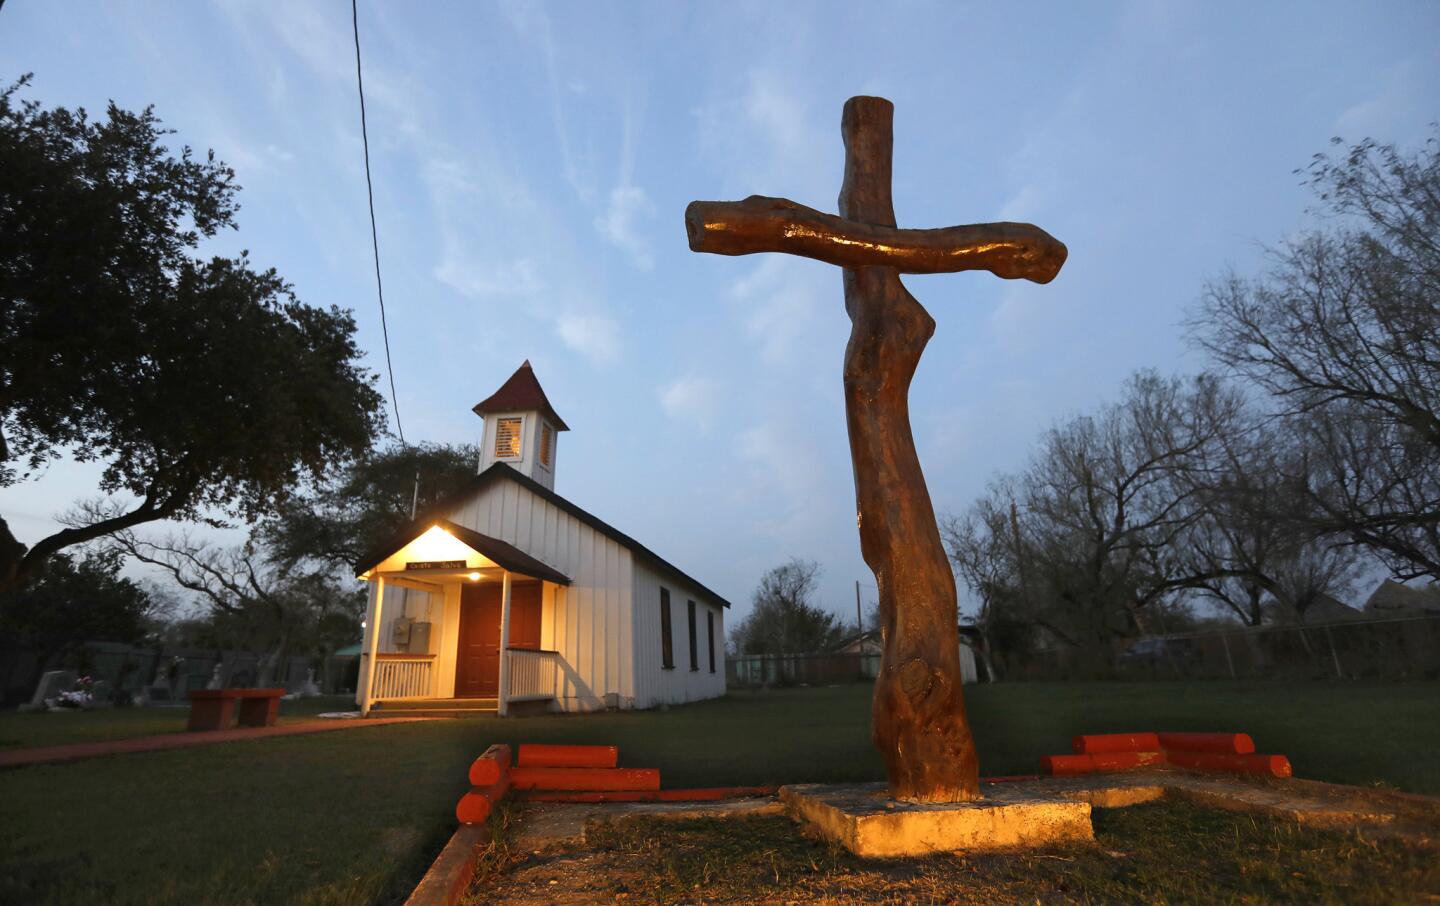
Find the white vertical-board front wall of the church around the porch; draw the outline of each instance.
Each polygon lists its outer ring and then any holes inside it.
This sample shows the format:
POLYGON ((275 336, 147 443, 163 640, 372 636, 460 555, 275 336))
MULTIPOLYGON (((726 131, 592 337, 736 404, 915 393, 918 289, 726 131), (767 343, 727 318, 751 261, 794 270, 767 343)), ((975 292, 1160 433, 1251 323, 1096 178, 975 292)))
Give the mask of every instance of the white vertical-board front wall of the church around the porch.
MULTIPOLYGON (((562 710, 593 710, 613 694, 634 701, 629 550, 513 481, 498 481, 455 507, 449 519, 520 547, 570 576, 550 586, 541 605, 546 645, 559 651, 556 701, 562 710), (550 591, 553 589, 553 591, 550 591), (547 605, 547 606, 546 606, 547 605)), ((449 642, 454 645, 454 637, 449 642)), ((454 668, 451 670, 454 683, 454 668)))

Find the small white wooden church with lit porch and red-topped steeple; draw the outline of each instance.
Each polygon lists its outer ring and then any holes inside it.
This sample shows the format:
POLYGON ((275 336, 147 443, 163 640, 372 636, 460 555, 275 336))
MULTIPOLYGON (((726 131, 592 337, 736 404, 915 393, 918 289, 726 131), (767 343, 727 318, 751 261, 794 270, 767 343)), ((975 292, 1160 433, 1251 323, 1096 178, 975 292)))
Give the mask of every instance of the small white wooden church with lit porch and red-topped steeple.
POLYGON ((361 713, 723 696, 729 602, 554 493, 569 428, 530 363, 474 411, 475 478, 357 563, 370 583, 361 713))

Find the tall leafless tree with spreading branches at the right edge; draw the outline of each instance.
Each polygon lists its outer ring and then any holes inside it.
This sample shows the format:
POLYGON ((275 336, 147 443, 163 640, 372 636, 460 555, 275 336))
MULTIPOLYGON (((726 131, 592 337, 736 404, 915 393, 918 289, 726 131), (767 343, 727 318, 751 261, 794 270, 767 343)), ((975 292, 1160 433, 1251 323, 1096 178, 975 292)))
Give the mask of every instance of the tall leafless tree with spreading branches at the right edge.
POLYGON ((1316 156, 1326 230, 1208 287, 1189 330, 1310 451, 1312 532, 1440 580, 1440 140, 1316 156))

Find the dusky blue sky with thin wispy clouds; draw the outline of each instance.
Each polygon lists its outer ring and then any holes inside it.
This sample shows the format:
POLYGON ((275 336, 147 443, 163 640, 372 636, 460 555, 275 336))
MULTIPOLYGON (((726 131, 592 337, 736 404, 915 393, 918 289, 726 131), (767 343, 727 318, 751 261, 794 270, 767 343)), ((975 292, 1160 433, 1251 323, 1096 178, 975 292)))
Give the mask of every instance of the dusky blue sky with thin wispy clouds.
MULTIPOLYGON (((845 98, 896 102, 903 226, 1030 220, 1050 285, 906 278, 939 323, 912 390, 939 511, 1135 369, 1197 370, 1204 281, 1306 226, 1292 171, 1332 135, 1414 145, 1440 120, 1440 4, 361 3, 376 215, 405 434, 474 442, 530 359, 570 425, 556 490, 749 611, 824 568, 854 615, 838 269, 694 255, 693 199, 835 209, 845 98)), ((238 171, 249 249, 354 308, 383 369, 350 6, 37 3, 0 10, 6 81, 154 104, 238 171)), ((207 249, 210 251, 210 249, 207 249)), ((94 493, 0 493, 23 540, 94 493)), ((873 596, 871 589, 865 589, 873 596)))

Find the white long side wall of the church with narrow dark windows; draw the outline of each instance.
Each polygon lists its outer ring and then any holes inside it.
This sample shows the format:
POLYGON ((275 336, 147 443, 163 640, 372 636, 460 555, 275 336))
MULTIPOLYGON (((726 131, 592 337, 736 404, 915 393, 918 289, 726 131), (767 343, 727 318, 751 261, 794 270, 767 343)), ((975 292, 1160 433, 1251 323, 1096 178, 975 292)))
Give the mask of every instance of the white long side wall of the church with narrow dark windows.
MULTIPOLYGON (((675 618, 678 602, 694 599, 696 622, 701 614, 714 614, 716 644, 723 645, 724 640, 724 609, 711 604, 697 589, 662 578, 644 563, 635 563, 635 596, 634 609, 634 663, 635 663, 635 707, 655 707, 660 704, 683 704, 685 701, 700 701, 716 699, 724 694, 724 670, 717 664, 716 673, 710 673, 704 664, 698 671, 690 670, 690 663, 677 663, 672 670, 662 665, 662 645, 660 638, 660 589, 670 589, 670 638, 672 651, 688 652, 688 629, 685 619, 675 618)), ((697 638, 697 642, 700 640, 697 638)), ((719 654, 719 652, 717 652, 719 654)))

